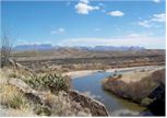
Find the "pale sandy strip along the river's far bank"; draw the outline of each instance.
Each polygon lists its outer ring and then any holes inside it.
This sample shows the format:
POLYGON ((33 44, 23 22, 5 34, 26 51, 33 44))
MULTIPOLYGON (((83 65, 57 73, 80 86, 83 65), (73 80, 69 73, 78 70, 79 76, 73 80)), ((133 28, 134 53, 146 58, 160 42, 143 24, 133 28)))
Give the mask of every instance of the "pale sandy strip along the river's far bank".
POLYGON ((71 72, 64 72, 62 73, 62 75, 68 75, 72 79, 75 79, 75 78, 81 78, 81 76, 85 76, 85 75, 90 75, 90 74, 93 74, 93 73, 96 73, 96 72, 115 72, 116 70, 117 71, 126 71, 126 70, 134 70, 134 69, 140 69, 140 68, 155 68, 156 69, 159 69, 160 67, 159 66, 145 66, 145 67, 132 67, 132 68, 117 68, 117 69, 107 69, 107 70, 80 70, 80 71, 71 71, 71 72))

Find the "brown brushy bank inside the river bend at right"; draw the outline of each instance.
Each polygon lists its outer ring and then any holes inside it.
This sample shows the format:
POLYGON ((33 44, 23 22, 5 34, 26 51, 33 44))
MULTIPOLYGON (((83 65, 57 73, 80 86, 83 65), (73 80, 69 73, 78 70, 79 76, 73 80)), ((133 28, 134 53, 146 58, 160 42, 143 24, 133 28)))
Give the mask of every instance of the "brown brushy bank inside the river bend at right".
MULTIPOLYGON (((145 71, 143 71, 145 72, 145 71)), ((132 72, 131 72, 132 73, 132 72)), ((131 76, 131 73, 130 76, 131 76)), ((135 73, 136 76, 133 78, 135 81, 126 82, 127 75, 115 75, 109 76, 103 81, 103 87, 120 97, 133 101, 143 106, 151 106, 156 99, 158 99, 160 107, 163 108, 162 114, 158 110, 154 110, 156 115, 165 115, 165 69, 156 70, 152 72, 146 72, 142 79, 136 79, 142 75, 135 73), (157 88, 160 87, 158 91, 157 88), (155 94, 156 91, 156 94, 155 94), (154 97, 151 95, 154 93, 154 97), (164 104, 163 104, 164 103, 164 104)), ((133 74, 132 74, 133 76, 133 74)), ((156 103, 157 105, 158 103, 156 103)), ((152 105, 152 109, 154 109, 152 105)), ((150 107, 151 108, 151 107, 150 107)))

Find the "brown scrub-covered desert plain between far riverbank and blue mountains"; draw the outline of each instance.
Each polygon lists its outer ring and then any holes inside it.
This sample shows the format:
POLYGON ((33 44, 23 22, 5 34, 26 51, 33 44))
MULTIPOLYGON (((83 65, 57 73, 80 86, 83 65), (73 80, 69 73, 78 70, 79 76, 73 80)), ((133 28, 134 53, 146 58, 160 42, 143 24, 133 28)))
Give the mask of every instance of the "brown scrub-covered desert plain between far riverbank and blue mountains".
POLYGON ((60 48, 45 51, 12 51, 12 58, 36 72, 68 72, 76 70, 106 70, 140 66, 163 66, 165 50, 93 51, 60 48), (37 52, 38 55, 35 55, 37 52))

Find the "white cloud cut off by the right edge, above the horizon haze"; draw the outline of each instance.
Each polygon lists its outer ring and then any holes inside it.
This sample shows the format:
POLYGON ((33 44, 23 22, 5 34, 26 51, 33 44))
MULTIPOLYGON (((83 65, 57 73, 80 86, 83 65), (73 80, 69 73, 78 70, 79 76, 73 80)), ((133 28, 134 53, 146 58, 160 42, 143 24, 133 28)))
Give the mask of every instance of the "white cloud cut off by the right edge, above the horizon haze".
POLYGON ((165 13, 154 14, 152 21, 166 22, 166 14, 165 13))

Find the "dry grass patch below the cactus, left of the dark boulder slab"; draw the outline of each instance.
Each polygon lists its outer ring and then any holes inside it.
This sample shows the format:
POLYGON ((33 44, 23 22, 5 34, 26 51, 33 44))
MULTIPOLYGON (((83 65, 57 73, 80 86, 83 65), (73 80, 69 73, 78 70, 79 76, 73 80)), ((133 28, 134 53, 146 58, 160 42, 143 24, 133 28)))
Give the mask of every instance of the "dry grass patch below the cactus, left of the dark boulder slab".
POLYGON ((35 109, 38 115, 49 116, 91 116, 91 111, 72 102, 65 92, 53 95, 47 92, 45 105, 38 105, 35 109))

